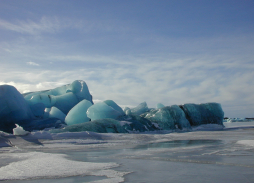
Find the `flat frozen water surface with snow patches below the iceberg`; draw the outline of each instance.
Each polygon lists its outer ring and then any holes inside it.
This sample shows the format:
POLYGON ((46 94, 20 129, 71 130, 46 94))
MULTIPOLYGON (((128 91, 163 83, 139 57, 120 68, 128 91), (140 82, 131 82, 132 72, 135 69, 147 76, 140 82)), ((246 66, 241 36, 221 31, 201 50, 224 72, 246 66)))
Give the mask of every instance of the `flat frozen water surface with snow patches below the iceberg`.
POLYGON ((254 182, 254 122, 192 131, 0 133, 0 180, 50 182, 254 182))

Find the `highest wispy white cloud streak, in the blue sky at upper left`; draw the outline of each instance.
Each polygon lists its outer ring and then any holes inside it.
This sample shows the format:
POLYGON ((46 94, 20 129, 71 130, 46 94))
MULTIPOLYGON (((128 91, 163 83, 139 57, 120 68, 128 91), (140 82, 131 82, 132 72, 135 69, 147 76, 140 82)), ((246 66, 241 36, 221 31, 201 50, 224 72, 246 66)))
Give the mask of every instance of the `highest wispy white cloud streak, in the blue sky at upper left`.
POLYGON ((19 32, 23 34, 38 35, 41 33, 58 33, 64 29, 77 29, 83 33, 103 31, 103 32, 126 32, 130 28, 122 22, 101 21, 93 19, 69 19, 59 17, 43 16, 39 20, 14 20, 7 21, 0 19, 0 28, 19 32))

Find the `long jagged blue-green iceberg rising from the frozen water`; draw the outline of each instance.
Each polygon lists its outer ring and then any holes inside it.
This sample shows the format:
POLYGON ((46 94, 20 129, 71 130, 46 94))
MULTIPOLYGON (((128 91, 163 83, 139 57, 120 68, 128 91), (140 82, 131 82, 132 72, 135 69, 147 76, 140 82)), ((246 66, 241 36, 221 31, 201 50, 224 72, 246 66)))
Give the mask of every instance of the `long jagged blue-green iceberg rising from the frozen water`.
POLYGON ((223 125, 224 112, 218 103, 184 104, 148 108, 118 106, 113 100, 93 104, 84 81, 23 96, 15 87, 0 86, 0 130, 12 133, 15 124, 26 131, 57 128, 65 131, 128 133, 131 131, 190 129, 202 124, 223 125), (65 126, 64 128, 63 125, 65 126))

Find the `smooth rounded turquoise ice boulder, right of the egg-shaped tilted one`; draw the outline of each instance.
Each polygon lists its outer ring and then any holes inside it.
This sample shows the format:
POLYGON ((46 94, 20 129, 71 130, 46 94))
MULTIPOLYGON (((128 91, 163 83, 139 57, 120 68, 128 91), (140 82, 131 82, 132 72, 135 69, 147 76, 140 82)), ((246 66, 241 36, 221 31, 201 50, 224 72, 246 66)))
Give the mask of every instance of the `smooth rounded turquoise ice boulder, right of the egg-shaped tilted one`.
POLYGON ((99 102, 88 108, 87 117, 89 117, 92 121, 96 119, 104 119, 104 118, 112 118, 116 119, 122 114, 112 107, 108 106, 104 102, 99 102))

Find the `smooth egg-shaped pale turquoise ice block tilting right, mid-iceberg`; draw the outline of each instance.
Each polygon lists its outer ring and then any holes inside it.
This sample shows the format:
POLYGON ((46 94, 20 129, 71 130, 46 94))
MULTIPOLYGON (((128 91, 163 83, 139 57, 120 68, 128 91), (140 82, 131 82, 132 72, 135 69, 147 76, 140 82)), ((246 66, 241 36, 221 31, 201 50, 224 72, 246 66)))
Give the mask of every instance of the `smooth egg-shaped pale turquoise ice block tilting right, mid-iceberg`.
POLYGON ((90 121, 90 118, 87 117, 86 111, 91 106, 92 103, 90 101, 86 99, 82 100, 69 111, 65 118, 65 123, 67 125, 74 125, 90 121))

